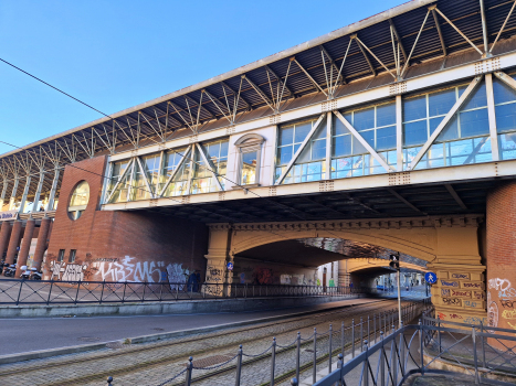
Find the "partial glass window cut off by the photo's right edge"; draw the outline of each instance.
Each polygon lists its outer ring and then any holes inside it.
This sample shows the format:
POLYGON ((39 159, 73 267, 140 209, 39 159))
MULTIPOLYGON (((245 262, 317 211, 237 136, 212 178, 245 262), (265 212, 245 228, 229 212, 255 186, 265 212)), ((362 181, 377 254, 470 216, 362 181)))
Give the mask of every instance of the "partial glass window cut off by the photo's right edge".
MULTIPOLYGON (((513 79, 516 74, 510 75, 513 79)), ((516 159, 516 90, 493 77, 496 130, 502 160, 516 159)))

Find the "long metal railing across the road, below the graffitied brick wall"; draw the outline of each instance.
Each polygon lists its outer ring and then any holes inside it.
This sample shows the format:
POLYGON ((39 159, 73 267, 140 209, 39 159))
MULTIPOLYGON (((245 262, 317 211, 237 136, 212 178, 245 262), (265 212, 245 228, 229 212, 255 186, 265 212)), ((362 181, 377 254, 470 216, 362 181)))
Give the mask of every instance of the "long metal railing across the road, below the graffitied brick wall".
POLYGON ((271 297, 352 297, 365 293, 349 287, 0 280, 0 304, 77 304, 271 297))

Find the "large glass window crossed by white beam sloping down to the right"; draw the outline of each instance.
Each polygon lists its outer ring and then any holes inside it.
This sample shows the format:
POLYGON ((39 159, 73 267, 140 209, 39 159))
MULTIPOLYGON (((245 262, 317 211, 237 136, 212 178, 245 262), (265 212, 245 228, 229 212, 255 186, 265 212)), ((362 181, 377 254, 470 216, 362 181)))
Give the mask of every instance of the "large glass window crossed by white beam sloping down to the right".
MULTIPOLYGON (((344 117, 388 164, 396 165, 394 103, 351 110, 344 117)), ((334 117, 331 144, 333 179, 387 173, 337 117, 334 117)))

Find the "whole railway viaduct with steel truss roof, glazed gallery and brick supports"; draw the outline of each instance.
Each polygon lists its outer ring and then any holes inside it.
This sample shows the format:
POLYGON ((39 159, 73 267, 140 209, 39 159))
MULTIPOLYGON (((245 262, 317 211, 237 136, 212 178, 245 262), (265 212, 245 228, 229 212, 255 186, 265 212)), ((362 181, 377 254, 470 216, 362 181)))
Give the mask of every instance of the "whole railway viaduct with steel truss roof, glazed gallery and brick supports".
POLYGON ((508 328, 513 10, 412 0, 2 154, 0 254, 55 280, 314 283, 399 251, 441 318, 508 328))

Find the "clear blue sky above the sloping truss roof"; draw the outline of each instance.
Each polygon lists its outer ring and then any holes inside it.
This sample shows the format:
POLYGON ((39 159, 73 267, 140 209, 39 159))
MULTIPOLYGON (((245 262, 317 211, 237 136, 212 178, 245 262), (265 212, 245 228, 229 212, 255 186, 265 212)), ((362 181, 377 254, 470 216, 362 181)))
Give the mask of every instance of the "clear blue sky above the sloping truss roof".
MULTIPOLYGON (((3 0, 0 57, 113 114, 401 2, 3 0)), ((0 63, 1 140, 23 146, 101 117, 0 63)))

